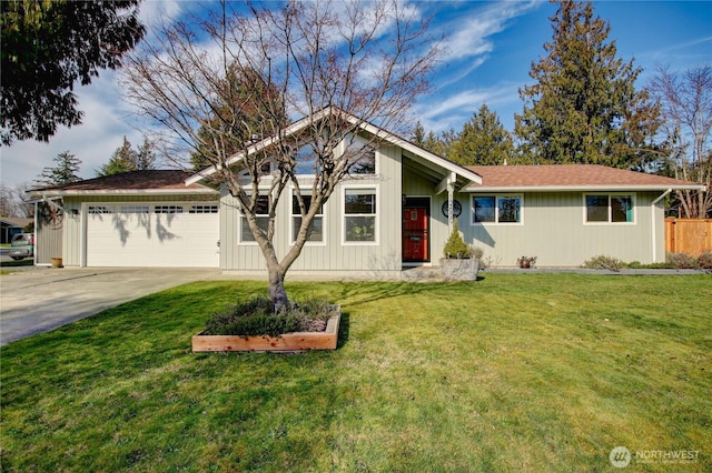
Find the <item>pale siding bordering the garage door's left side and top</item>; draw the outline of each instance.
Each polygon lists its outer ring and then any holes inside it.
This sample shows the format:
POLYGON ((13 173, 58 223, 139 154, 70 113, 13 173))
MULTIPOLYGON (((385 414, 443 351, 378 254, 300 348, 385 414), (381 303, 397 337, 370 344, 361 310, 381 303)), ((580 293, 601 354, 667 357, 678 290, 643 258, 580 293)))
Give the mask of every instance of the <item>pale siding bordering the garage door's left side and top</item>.
POLYGON ((87 208, 92 204, 130 205, 138 203, 159 202, 215 202, 217 195, 92 195, 65 197, 65 239, 62 246, 63 264, 66 266, 82 266, 87 264, 87 208))

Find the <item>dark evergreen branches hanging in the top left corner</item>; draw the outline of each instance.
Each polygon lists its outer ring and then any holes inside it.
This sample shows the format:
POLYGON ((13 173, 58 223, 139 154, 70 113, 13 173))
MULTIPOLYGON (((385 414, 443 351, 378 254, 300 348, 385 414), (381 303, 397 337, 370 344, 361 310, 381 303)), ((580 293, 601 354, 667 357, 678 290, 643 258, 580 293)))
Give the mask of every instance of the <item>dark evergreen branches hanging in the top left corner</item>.
POLYGON ((0 1, 2 144, 81 123, 75 85, 121 66, 140 41, 139 1, 0 1))

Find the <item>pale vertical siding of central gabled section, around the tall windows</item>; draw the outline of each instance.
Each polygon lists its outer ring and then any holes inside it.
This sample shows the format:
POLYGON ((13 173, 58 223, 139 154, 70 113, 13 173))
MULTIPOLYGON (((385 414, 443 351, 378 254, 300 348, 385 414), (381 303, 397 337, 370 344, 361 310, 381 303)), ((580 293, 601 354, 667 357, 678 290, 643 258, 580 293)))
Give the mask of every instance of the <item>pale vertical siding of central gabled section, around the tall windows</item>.
MULTIPOLYGON (((342 271, 384 275, 400 271, 400 149, 384 147, 376 152, 376 175, 345 179, 324 207, 324 243, 307 243, 290 268, 295 272, 342 271), (373 187, 377 189, 377 244, 343 244, 344 188, 373 187)), ((308 188, 308 183, 304 189, 308 188)), ((287 188, 279 202, 275 222, 275 249, 283 258, 290 248, 289 219, 291 189, 287 188)), ((236 200, 224 192, 221 198, 220 268, 237 272, 265 272, 265 260, 256 243, 239 241, 240 217, 236 200)))

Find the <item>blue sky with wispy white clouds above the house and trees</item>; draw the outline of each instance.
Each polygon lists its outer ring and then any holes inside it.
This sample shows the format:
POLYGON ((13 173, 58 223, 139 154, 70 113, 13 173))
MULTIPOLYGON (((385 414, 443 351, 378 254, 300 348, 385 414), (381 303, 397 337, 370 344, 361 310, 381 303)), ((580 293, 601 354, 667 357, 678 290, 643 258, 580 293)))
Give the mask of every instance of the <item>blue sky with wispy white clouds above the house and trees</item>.
MULTIPOLYGON (((191 1, 148 0, 141 16, 148 24, 158 18, 180 16, 196 7, 191 1)), ((634 59, 643 68, 642 88, 656 66, 685 70, 712 64, 712 1, 597 1, 594 13, 611 26, 621 59, 634 59)), ((458 131, 486 103, 504 127, 514 128, 522 111, 517 90, 531 83, 532 61, 544 56, 552 38, 548 18, 556 6, 547 1, 422 1, 415 6, 433 14, 435 36, 445 34, 448 47, 433 77, 434 90, 414 107, 427 130, 458 131)), ((130 124, 113 72, 103 72, 89 87, 77 88, 83 124, 61 128, 49 143, 18 142, 0 148, 0 181, 14 187, 32 182, 52 159, 69 150, 82 161, 80 177, 96 177, 121 144, 123 135, 135 145, 142 135, 130 124)))

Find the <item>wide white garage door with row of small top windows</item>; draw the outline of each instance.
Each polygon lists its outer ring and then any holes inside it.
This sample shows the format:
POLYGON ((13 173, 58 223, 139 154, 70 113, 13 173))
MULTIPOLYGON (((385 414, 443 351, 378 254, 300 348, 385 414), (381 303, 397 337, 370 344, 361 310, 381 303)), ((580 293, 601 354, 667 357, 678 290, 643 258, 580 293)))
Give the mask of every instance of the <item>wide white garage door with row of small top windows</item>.
POLYGON ((217 203, 89 205, 88 266, 218 268, 217 203))

